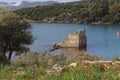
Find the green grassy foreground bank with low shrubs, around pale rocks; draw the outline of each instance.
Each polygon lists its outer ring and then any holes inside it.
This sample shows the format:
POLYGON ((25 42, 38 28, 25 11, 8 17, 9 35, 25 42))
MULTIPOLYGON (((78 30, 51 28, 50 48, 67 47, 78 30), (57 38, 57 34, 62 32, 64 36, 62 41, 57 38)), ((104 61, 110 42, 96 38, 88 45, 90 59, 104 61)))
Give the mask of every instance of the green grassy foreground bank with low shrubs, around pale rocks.
POLYGON ((0 80, 120 80, 120 67, 101 70, 100 64, 85 66, 80 59, 79 57, 68 62, 63 55, 61 57, 49 53, 28 53, 20 56, 10 65, 1 64, 0 80), (34 58, 36 59, 34 60, 34 58), (70 67, 69 64, 72 61, 78 62, 78 66, 70 67), (48 75, 46 70, 52 68, 56 63, 64 66, 64 71, 60 74, 48 75))

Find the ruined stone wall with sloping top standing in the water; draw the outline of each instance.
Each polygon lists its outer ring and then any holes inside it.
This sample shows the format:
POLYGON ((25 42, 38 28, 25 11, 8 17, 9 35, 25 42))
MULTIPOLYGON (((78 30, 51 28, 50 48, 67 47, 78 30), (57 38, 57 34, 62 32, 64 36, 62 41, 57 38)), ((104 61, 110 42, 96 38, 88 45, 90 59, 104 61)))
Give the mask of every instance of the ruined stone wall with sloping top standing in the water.
POLYGON ((85 30, 79 30, 68 35, 66 40, 61 43, 56 43, 54 48, 68 47, 68 48, 86 48, 86 34, 85 30))

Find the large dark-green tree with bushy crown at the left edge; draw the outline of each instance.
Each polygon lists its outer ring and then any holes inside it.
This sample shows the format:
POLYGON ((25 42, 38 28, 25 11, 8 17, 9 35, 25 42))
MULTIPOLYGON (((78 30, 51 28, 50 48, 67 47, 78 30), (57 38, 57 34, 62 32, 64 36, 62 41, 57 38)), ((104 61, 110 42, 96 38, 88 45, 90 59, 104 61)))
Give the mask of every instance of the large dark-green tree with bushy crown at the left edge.
POLYGON ((4 60, 10 60, 13 52, 28 49, 26 45, 33 42, 30 27, 28 22, 12 11, 0 8, 0 56, 4 60), (8 53, 8 58, 6 53, 8 53))

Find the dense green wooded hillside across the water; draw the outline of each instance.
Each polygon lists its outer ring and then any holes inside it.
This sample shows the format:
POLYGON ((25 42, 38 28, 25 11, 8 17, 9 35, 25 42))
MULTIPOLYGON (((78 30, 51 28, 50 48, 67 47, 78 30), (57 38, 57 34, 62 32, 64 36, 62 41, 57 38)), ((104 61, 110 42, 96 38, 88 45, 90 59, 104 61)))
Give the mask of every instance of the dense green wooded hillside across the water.
POLYGON ((120 23, 119 0, 82 0, 15 11, 26 20, 54 23, 120 23))

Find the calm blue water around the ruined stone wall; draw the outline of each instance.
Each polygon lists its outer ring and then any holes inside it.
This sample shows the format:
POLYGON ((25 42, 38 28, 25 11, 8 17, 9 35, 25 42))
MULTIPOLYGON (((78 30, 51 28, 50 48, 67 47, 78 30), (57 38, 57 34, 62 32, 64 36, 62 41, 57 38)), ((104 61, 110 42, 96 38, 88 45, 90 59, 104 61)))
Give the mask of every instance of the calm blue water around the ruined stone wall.
POLYGON ((31 51, 48 51, 54 42, 61 42, 71 32, 85 29, 88 53, 107 59, 120 56, 120 37, 116 35, 120 32, 120 25, 32 23, 32 26, 36 39, 30 46, 31 51))

